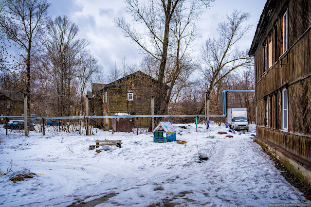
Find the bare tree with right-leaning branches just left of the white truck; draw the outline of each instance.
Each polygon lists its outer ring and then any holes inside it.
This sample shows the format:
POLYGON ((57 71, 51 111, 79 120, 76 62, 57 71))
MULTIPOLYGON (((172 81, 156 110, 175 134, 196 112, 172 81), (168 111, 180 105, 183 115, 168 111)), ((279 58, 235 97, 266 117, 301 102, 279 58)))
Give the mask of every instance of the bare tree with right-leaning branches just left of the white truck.
MULTIPOLYGON (((234 10, 218 25, 219 38, 208 38, 201 49, 203 67, 201 73, 206 83, 206 113, 209 114, 210 94, 230 72, 253 66, 253 58, 247 51, 240 51, 237 43, 247 34, 251 25, 243 26, 249 13, 234 10)), ((203 110, 202 105, 201 111, 203 110)))

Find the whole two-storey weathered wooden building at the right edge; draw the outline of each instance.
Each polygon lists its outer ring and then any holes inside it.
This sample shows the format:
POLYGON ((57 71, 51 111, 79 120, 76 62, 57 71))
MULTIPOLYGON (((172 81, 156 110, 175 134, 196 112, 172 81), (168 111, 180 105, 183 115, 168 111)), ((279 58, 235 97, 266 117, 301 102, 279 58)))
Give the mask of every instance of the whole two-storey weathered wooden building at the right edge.
POLYGON ((311 0, 267 0, 255 56, 254 141, 311 183, 311 0))

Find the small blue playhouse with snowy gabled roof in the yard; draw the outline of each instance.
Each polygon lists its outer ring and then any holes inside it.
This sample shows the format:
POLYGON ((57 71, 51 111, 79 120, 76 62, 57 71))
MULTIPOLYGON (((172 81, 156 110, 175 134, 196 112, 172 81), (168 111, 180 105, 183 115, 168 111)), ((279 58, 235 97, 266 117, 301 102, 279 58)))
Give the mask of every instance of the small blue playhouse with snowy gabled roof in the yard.
POLYGON ((153 130, 153 142, 176 141, 176 129, 170 122, 162 121, 153 130))

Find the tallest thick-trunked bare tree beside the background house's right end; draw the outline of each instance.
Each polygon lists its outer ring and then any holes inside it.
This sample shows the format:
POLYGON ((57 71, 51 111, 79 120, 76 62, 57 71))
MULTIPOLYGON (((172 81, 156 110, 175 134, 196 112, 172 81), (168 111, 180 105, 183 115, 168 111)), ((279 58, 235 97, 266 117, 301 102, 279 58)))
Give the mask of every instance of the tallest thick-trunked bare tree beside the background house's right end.
MULTIPOLYGON (((124 18, 116 19, 115 23, 123 29, 124 35, 130 37, 133 42, 137 43, 141 52, 151 55, 159 63, 157 67, 158 94, 155 103, 155 113, 161 113, 161 100, 165 97, 165 68, 169 50, 169 37, 171 21, 176 14, 176 9, 180 11, 187 6, 196 5, 208 7, 213 0, 125 0, 127 11, 132 15, 134 21, 143 25, 141 28, 135 28, 124 18)), ((167 103, 167 102, 166 102, 167 103)), ((166 104, 165 103, 165 104, 166 104)))

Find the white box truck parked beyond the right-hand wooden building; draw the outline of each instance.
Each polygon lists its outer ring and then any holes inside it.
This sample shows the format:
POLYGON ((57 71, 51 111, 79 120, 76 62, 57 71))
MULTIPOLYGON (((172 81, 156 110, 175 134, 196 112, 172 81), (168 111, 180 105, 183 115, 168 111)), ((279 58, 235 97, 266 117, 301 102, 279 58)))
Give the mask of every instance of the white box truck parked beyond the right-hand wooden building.
POLYGON ((248 132, 246 108, 228 108, 227 115, 230 129, 246 130, 248 132))

